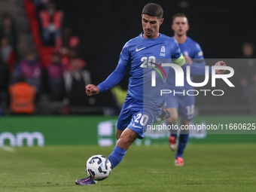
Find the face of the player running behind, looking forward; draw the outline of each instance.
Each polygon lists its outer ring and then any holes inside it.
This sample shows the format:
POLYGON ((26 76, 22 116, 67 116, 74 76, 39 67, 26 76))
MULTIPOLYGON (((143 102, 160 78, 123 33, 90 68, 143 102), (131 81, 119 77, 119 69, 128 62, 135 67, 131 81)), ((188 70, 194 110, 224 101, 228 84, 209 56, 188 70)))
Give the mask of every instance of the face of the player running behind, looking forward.
POLYGON ((172 22, 172 30, 175 35, 182 36, 187 33, 189 25, 186 17, 176 17, 172 22))

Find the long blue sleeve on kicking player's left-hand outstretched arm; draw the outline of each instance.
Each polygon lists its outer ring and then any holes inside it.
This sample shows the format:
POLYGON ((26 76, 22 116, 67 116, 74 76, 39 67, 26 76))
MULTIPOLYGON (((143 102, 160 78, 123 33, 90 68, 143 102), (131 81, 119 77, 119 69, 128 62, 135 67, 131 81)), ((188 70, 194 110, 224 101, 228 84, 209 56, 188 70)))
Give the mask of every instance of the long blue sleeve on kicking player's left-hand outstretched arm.
POLYGON ((111 87, 118 84, 119 81, 123 78, 123 75, 125 74, 129 65, 130 65, 129 51, 128 51, 128 47, 124 45, 123 50, 120 53, 117 68, 114 69, 114 72, 112 72, 111 75, 109 75, 105 81, 103 81, 101 84, 97 86, 99 87, 99 92, 108 90, 111 87))

